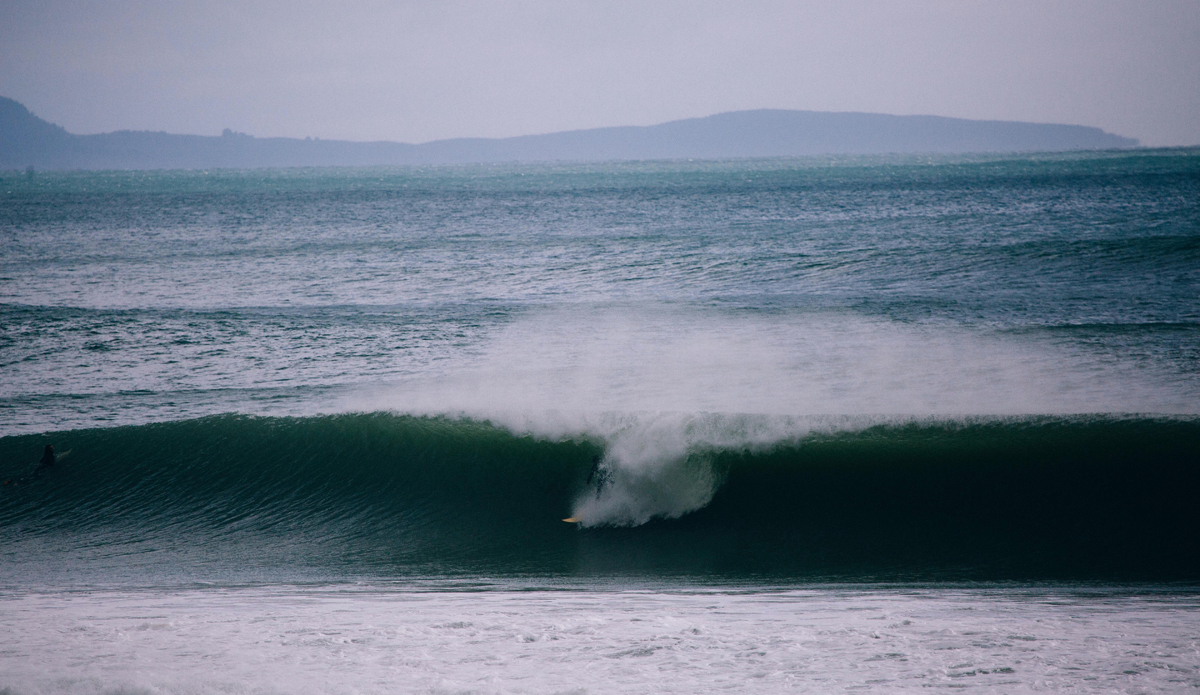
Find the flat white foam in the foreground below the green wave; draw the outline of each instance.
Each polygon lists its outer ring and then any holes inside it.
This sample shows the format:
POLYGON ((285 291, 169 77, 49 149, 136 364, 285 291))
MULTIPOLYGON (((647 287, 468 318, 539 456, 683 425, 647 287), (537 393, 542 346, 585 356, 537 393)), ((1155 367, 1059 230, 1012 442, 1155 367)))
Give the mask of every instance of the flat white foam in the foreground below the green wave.
POLYGON ((1194 595, 1094 589, 0 597, 13 695, 1165 693, 1200 687, 1194 595))

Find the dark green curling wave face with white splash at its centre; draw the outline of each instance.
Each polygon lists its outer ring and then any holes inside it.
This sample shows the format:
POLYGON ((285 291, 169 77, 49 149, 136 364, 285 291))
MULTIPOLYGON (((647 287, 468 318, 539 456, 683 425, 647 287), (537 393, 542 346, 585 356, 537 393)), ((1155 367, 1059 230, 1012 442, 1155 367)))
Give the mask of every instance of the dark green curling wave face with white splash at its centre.
POLYGON ((7 581, 1195 580, 1200 421, 397 414, 0 439, 7 581), (41 448, 70 450, 34 474, 41 448), (569 515, 582 523, 564 523, 569 515))

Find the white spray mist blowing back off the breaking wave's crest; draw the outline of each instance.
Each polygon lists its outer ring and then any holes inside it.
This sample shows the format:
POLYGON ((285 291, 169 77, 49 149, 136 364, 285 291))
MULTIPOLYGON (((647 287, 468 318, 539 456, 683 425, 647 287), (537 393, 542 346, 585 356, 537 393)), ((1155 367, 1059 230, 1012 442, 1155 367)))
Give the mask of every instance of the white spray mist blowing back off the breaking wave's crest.
POLYGON ((1160 365, 1114 365, 1043 336, 848 311, 535 310, 437 370, 445 376, 366 389, 349 405, 476 417, 1193 413, 1196 405, 1194 385, 1160 365))

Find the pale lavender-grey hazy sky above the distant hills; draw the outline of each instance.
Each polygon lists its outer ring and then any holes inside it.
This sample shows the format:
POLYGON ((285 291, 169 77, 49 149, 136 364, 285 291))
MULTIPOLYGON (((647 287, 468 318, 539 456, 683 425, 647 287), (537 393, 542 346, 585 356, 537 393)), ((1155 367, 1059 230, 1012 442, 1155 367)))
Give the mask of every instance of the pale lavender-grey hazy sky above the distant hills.
POLYGON ((0 0, 76 133, 420 143, 786 108, 1200 144, 1200 0, 0 0))

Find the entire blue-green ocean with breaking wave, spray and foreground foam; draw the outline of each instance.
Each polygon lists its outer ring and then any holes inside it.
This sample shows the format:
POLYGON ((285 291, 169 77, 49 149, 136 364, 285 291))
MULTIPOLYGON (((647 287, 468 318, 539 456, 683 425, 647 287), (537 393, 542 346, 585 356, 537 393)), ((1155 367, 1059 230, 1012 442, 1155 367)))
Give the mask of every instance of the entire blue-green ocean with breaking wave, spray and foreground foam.
POLYGON ((0 481, 4 695, 1192 691, 1200 150, 0 173, 0 481))

